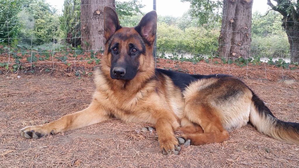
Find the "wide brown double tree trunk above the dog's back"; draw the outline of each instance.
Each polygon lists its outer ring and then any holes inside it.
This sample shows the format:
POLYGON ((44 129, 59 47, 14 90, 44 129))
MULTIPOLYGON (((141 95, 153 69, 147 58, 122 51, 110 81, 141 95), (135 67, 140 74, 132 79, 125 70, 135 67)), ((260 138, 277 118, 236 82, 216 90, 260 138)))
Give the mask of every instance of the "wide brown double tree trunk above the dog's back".
POLYGON ((218 52, 220 57, 250 57, 253 0, 224 0, 218 52))

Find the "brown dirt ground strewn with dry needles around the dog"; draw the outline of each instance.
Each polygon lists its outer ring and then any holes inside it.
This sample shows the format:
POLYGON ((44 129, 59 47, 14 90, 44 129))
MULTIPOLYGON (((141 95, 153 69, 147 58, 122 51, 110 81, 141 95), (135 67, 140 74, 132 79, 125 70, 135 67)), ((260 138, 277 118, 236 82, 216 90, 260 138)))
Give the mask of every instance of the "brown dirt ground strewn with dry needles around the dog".
MULTIPOLYGON (((223 70, 213 68, 212 73, 216 72, 223 70)), ((248 70, 230 72, 242 78, 277 118, 299 122, 299 73, 292 73, 297 81, 286 84, 279 81, 280 71, 268 77, 276 80, 260 80, 264 74, 248 75, 248 70)), ((21 78, 0 77, 0 167, 299 167, 298 145, 270 138, 251 125, 230 132, 230 139, 223 143, 182 146, 179 155, 170 156, 159 151, 155 131, 140 131, 147 125, 118 120, 25 139, 19 134, 21 128, 86 108, 94 84, 86 76, 18 75, 21 78)))

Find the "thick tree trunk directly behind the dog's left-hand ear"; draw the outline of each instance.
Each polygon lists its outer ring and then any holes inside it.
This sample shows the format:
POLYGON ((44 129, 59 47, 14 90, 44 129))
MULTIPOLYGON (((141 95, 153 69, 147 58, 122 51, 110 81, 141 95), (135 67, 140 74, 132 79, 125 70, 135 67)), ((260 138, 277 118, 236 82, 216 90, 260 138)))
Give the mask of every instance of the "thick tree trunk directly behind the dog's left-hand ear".
POLYGON ((81 0, 81 47, 83 50, 104 49, 104 6, 115 9, 115 0, 81 0))

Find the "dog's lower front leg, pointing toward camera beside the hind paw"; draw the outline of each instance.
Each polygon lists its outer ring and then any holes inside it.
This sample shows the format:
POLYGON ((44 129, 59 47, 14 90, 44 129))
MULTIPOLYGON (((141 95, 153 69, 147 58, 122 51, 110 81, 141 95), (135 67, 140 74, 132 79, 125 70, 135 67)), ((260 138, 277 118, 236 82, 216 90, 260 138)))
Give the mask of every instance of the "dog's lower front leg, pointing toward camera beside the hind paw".
POLYGON ((177 123, 176 120, 171 121, 168 118, 159 118, 155 127, 162 154, 177 155, 181 150, 181 147, 173 131, 179 127, 179 123, 177 123))

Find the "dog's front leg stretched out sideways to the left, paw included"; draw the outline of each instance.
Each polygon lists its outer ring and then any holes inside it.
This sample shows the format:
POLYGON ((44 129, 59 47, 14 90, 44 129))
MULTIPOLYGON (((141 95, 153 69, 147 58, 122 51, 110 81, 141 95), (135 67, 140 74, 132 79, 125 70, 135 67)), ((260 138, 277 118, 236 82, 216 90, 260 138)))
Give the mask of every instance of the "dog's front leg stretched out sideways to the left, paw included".
POLYGON ((21 129, 21 135, 24 138, 41 138, 45 135, 54 135, 59 132, 82 128, 109 119, 110 115, 103 106, 99 102, 93 101, 86 109, 65 115, 56 121, 39 126, 27 126, 21 129))

